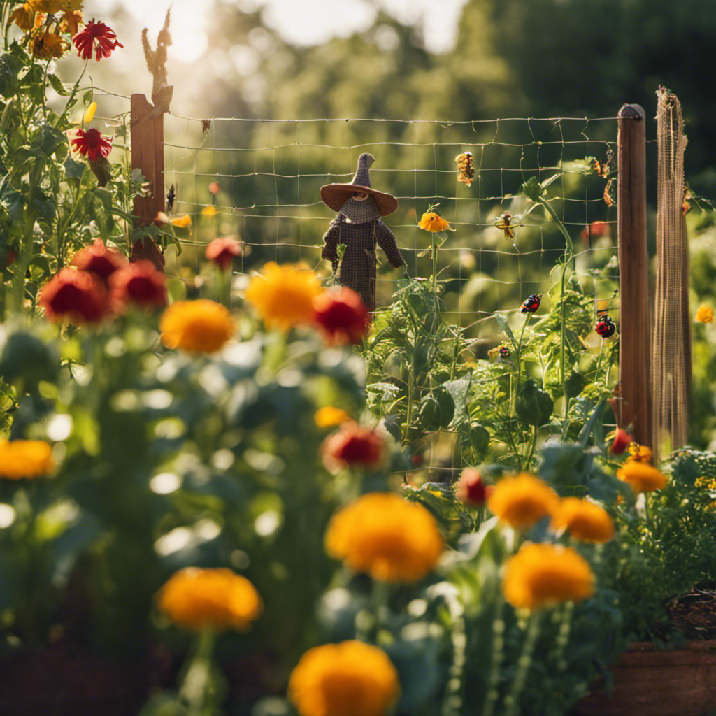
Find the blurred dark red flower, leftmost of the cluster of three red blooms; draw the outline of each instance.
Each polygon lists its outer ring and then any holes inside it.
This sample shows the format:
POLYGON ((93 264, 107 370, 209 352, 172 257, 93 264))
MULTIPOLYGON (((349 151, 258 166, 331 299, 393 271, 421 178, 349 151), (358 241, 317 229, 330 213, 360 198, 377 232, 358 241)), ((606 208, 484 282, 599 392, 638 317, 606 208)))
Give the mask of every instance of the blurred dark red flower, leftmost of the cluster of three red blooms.
POLYGON ((40 291, 38 304, 52 321, 97 323, 107 315, 109 302, 102 281, 88 271, 62 269, 40 291))

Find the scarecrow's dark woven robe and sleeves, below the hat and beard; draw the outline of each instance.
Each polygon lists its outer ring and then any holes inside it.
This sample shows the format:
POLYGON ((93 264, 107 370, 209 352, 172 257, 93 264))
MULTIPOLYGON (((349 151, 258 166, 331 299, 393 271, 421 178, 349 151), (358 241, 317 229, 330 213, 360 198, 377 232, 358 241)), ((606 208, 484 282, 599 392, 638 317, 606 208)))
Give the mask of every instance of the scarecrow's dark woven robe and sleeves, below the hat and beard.
POLYGON ((392 231, 380 221, 354 223, 339 214, 331 222, 323 237, 325 246, 321 257, 333 262, 334 273, 338 269, 339 243, 346 245, 337 279, 342 286, 358 291, 369 311, 375 310, 375 244, 385 252, 390 265, 397 269, 403 265, 392 231))

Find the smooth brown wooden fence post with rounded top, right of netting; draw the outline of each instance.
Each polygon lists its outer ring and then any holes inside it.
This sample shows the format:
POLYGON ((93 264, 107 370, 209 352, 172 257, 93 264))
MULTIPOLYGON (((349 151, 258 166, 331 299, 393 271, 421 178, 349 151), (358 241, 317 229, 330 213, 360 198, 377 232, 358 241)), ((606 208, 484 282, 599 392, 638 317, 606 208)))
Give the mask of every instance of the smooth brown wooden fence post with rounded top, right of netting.
POLYGON ((619 110, 619 382, 621 422, 652 446, 651 311, 647 253, 647 132, 639 105, 619 110))

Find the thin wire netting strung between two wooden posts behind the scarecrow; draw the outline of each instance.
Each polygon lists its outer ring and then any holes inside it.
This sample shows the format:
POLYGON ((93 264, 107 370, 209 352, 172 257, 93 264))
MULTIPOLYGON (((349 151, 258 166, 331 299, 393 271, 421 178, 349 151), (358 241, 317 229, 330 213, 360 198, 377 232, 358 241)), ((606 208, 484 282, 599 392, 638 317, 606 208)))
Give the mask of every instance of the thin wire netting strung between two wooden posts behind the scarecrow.
MULTIPOLYGON (((397 237, 407 274, 432 273, 430 256, 420 255, 430 246, 430 234, 417 227, 430 205, 437 204, 455 229, 438 256, 449 320, 478 326, 494 311, 518 309, 526 296, 546 294, 553 285, 550 271, 564 251, 554 224, 536 211, 516 225, 514 238, 495 227, 505 211, 517 217, 524 211, 521 185, 533 176, 543 181, 560 174, 548 198, 574 238, 576 268, 594 276, 595 296, 609 296, 616 280, 616 270, 609 272, 609 266, 616 269, 616 209, 605 202, 611 187, 604 172, 597 173, 585 158, 594 157, 601 168, 611 161, 616 169, 611 160, 616 122, 616 117, 443 122, 168 115, 165 189, 175 188, 175 213, 196 218, 177 270, 191 263, 197 268, 212 238, 236 234, 246 248, 239 273, 249 274, 266 261, 304 261, 328 279, 330 266, 320 252, 335 213, 321 202, 319 189, 349 183, 358 156, 369 152, 376 158, 372 187, 400 201, 384 221, 397 237), (472 154, 474 167, 469 186, 458 181, 455 161, 465 152, 472 154)), ((380 307, 405 274, 391 269, 380 251, 378 263, 380 307)))

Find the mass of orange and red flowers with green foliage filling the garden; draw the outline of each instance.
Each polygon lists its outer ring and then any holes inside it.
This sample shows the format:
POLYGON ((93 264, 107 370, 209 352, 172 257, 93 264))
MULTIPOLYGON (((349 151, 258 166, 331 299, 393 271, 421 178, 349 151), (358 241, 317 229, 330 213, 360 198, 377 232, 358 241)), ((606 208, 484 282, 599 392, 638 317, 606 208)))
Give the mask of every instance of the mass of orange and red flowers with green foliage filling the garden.
POLYGON ((132 249, 197 217, 138 225, 127 117, 102 135, 54 74, 120 39, 79 0, 0 8, 0 712, 557 716, 629 642, 685 638, 716 459, 618 425, 585 288, 612 266, 580 273, 561 171, 500 217, 563 253, 487 357, 446 317, 437 205, 432 275, 372 314, 327 266, 234 277, 230 236, 168 279, 132 249))

